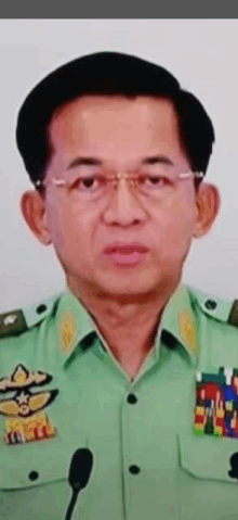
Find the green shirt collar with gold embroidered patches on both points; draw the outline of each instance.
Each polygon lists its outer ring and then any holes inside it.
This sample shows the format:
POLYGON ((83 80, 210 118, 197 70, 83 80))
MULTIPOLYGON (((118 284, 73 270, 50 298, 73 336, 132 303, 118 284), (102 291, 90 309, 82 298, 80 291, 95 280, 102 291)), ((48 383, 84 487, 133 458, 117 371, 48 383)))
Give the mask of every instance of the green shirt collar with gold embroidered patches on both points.
MULTIPOLYGON (((62 356, 62 364, 69 358, 77 345, 87 348, 87 337, 98 337, 98 330, 93 317, 83 304, 70 292, 65 292, 56 312, 56 330, 62 356), (84 343, 83 343, 84 341, 84 343)), ((159 356, 161 332, 166 330, 186 350, 193 365, 199 357, 199 343, 195 314, 193 312, 188 289, 180 284, 170 296, 162 313, 155 339, 155 352, 159 356)))

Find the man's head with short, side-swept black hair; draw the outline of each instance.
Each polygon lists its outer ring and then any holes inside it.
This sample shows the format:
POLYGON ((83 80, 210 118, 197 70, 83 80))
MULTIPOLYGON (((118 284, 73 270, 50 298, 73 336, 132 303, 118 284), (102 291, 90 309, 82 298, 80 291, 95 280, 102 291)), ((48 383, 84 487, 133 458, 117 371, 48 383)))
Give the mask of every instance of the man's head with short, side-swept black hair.
POLYGON ((118 53, 76 60, 42 80, 19 112, 18 149, 31 180, 47 187, 23 195, 24 217, 41 242, 53 242, 69 286, 132 299, 162 291, 178 281, 193 238, 217 213, 213 186, 178 180, 206 173, 213 141, 200 102, 162 67, 118 53), (175 182, 162 180, 156 199, 122 180, 106 199, 81 204, 88 193, 54 183, 76 174, 155 177, 158 164, 175 182), (124 264, 105 253, 118 241, 147 252, 124 264))

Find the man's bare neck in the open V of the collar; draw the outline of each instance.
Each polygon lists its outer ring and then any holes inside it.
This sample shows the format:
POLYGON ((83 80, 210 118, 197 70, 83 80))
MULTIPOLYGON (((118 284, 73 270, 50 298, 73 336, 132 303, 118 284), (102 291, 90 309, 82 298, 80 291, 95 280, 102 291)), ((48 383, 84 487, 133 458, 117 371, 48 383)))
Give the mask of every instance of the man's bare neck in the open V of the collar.
POLYGON ((107 343, 107 346, 131 376, 138 372, 146 355, 151 351, 161 315, 178 282, 142 296, 120 300, 92 294, 70 279, 69 291, 84 305, 107 343))

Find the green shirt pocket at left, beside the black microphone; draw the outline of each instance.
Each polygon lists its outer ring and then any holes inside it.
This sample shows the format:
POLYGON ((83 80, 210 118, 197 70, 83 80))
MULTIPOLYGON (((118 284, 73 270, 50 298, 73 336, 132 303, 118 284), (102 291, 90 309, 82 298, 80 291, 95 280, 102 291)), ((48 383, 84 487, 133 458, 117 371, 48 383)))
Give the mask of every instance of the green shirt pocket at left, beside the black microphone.
MULTIPOLYGON (((55 440, 1 448, 0 517, 11 520, 62 520, 71 499, 68 483, 76 449, 87 447, 83 439, 68 444, 55 440)), ((85 519, 85 497, 77 500, 85 519)), ((74 517, 72 517, 74 518, 74 517)), ((77 516, 75 517, 77 518, 77 516)))

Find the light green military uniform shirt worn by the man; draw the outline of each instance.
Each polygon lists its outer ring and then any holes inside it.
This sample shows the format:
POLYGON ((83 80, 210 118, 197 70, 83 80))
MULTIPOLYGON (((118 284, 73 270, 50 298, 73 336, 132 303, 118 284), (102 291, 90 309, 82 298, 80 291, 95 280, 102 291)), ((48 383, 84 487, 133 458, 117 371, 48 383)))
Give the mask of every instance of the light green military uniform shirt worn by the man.
POLYGON ((237 520, 238 439, 206 434, 201 403, 194 415, 196 373, 238 368, 237 316, 181 286, 131 381, 71 294, 1 315, 0 518, 63 520, 71 456, 88 447, 74 520, 237 520))

